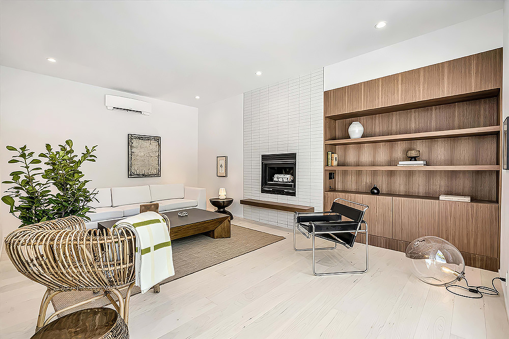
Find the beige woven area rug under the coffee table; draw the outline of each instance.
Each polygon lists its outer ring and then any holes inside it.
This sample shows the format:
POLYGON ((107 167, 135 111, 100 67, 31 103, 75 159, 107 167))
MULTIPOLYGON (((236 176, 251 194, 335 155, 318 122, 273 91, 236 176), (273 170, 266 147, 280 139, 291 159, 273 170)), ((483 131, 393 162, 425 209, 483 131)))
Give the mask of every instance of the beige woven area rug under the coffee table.
MULTIPOLYGON (((163 281, 161 285, 254 250, 261 249, 264 246, 282 239, 285 239, 285 237, 232 225, 231 238, 212 239, 208 236, 197 234, 172 240, 175 275, 163 281)), ((122 291, 124 296, 125 290, 126 289, 122 291)), ((139 287, 134 286, 132 295, 139 293, 139 287)), ((147 293, 153 292, 150 290, 147 293)), ((83 300, 90 299, 93 296, 95 295, 91 291, 70 291, 58 294, 51 302, 53 303, 55 311, 59 311, 83 300)), ((109 303, 109 300, 104 297, 80 307, 75 307, 67 313, 88 309, 89 307, 101 307, 109 303)), ((61 316, 67 313, 64 312, 61 316)))

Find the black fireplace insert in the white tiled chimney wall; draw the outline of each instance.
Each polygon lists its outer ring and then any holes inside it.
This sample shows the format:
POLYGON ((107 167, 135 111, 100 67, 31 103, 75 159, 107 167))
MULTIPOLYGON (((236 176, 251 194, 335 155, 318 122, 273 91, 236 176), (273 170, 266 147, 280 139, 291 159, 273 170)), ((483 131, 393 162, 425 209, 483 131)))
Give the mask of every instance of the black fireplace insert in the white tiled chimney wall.
POLYGON ((262 193, 295 197, 297 153, 262 155, 262 193))

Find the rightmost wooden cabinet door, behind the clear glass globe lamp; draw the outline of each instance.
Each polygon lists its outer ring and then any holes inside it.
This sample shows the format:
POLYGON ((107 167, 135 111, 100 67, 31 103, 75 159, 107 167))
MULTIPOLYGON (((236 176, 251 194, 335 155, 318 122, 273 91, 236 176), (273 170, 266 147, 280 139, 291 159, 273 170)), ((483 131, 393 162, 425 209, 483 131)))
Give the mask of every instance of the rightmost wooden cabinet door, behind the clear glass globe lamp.
POLYGON ((438 236, 462 252, 498 257, 498 205, 440 201, 438 236))

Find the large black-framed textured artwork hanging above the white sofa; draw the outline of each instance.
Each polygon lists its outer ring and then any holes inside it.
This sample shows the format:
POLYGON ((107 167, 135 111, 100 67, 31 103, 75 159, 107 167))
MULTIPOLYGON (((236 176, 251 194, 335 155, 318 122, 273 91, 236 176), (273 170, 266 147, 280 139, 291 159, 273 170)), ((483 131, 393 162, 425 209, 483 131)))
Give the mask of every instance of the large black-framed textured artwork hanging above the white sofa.
POLYGON ((161 137, 127 135, 127 177, 161 176, 161 137))

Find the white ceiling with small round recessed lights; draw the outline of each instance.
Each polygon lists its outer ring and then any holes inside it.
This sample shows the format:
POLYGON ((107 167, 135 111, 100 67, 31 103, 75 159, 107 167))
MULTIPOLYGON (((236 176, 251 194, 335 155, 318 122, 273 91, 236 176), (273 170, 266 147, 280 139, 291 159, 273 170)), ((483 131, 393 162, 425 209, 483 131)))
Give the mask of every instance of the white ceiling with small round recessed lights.
POLYGON ((502 7, 501 1, 3 0, 0 64, 200 107, 502 7), (387 26, 375 29, 381 20, 387 26))

